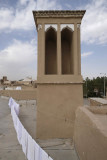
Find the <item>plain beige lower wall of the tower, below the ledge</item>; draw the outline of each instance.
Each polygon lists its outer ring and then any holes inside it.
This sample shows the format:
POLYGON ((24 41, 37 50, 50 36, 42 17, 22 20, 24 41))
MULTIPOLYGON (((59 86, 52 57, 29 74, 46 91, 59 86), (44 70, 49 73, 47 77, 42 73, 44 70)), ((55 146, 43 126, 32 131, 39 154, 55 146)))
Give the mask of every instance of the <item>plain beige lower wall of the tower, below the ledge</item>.
POLYGON ((37 88, 36 138, 71 138, 75 110, 83 104, 82 84, 41 84, 37 88))

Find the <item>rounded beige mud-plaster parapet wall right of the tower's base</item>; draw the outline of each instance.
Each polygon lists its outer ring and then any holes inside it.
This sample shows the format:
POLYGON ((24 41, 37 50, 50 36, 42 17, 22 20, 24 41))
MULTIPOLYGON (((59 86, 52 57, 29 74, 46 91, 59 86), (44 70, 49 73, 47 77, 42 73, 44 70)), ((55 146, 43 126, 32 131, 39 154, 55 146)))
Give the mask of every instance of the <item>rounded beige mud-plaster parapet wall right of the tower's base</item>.
POLYGON ((107 125, 102 119, 85 107, 76 111, 74 142, 80 160, 107 160, 107 125))

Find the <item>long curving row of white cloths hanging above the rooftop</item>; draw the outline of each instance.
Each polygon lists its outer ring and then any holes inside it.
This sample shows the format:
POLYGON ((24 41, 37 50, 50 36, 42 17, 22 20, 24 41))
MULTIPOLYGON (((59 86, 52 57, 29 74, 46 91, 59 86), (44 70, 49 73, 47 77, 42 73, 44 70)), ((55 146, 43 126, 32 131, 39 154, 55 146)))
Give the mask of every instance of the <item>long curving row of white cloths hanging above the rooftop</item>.
POLYGON ((17 139, 22 146, 22 150, 28 160, 53 160, 30 136, 27 130, 22 125, 19 115, 19 104, 15 102, 13 98, 9 99, 9 108, 11 109, 11 115, 13 124, 17 133, 17 139))

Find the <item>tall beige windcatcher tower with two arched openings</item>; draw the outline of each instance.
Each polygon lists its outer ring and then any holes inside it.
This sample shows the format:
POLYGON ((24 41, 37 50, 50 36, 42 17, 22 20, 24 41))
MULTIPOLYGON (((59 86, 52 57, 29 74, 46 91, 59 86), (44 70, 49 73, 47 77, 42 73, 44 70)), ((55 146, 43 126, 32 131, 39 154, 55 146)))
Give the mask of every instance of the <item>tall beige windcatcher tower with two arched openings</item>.
POLYGON ((36 138, 73 137, 83 105, 80 26, 85 11, 33 11, 38 32, 36 138))

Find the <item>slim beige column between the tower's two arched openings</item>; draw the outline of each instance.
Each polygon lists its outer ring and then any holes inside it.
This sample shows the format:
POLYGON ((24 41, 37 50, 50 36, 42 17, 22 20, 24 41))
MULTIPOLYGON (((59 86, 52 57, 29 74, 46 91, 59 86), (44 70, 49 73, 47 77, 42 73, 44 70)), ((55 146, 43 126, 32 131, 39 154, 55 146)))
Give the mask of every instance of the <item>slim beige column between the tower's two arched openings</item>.
POLYGON ((60 23, 57 24, 57 74, 61 75, 61 31, 60 23))

